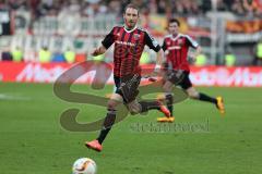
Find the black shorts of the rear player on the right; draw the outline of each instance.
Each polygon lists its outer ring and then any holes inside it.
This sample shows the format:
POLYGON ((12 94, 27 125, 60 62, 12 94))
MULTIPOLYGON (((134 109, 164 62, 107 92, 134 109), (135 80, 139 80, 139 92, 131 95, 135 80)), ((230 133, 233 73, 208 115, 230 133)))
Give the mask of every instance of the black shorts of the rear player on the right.
POLYGON ((181 73, 177 73, 177 71, 167 71, 166 79, 175 84, 176 86, 181 86, 182 89, 187 90, 192 87, 192 83, 189 78, 189 72, 183 71, 181 73))

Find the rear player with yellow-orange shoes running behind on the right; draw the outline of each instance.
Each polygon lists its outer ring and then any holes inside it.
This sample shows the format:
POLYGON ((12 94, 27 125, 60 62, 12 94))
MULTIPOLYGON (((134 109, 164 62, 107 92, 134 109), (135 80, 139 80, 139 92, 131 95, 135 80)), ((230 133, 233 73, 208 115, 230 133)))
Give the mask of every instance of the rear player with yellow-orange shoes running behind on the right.
POLYGON ((174 85, 180 86, 187 91, 191 99, 207 101, 214 103, 221 113, 225 112, 222 97, 213 98, 205 94, 198 92, 192 86, 189 78, 190 67, 188 57, 195 61, 196 55, 201 52, 201 47, 188 35, 179 34, 179 21, 177 18, 169 20, 168 29, 170 35, 167 35, 164 39, 163 50, 166 54, 166 67, 164 75, 164 91, 166 94, 167 108, 171 113, 169 117, 158 117, 158 122, 174 122, 172 115, 172 101, 174 96, 171 88, 174 85), (188 55, 189 48, 195 49, 195 52, 188 55))

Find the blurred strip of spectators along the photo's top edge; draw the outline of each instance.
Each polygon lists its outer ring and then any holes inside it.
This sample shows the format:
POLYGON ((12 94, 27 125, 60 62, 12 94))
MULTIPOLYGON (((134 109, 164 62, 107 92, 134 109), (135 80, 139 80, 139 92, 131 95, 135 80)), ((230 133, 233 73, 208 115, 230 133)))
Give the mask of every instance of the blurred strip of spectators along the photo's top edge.
POLYGON ((0 0, 0 9, 27 10, 32 16, 56 15, 60 11, 75 11, 82 15, 100 13, 121 14, 130 2, 140 7, 142 13, 169 15, 205 14, 216 3, 218 11, 236 15, 262 15, 262 0, 0 0))

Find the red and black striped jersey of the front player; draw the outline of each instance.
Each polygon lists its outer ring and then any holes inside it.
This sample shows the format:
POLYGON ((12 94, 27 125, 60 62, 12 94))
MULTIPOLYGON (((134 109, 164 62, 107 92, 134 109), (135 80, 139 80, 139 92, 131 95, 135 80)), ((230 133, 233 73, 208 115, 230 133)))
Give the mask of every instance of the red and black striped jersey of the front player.
POLYGON ((115 44, 114 75, 118 77, 141 73, 139 63, 145 45, 155 52, 160 50, 157 41, 139 27, 128 30, 124 26, 115 26, 102 41, 106 49, 112 44, 115 44))

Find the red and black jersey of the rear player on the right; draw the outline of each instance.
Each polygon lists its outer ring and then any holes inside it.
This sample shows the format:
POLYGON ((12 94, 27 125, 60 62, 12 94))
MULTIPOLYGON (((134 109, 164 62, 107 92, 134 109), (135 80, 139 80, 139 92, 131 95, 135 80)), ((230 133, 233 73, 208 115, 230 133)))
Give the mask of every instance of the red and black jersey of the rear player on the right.
POLYGON ((196 49, 199 44, 188 35, 178 34, 176 37, 167 35, 163 42, 167 63, 171 64, 174 70, 190 71, 188 62, 189 47, 196 49))

